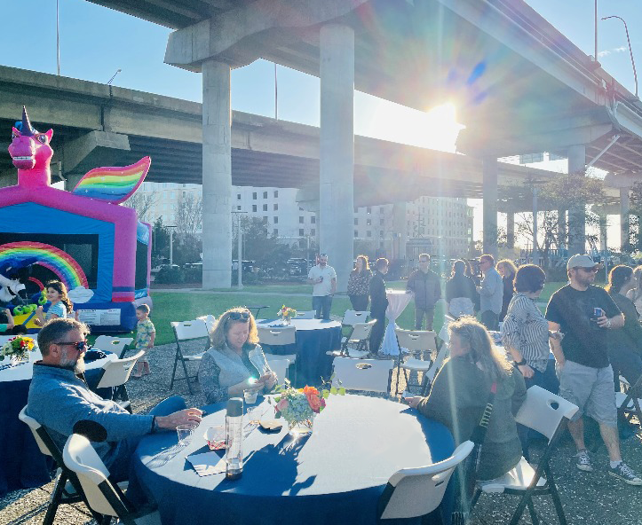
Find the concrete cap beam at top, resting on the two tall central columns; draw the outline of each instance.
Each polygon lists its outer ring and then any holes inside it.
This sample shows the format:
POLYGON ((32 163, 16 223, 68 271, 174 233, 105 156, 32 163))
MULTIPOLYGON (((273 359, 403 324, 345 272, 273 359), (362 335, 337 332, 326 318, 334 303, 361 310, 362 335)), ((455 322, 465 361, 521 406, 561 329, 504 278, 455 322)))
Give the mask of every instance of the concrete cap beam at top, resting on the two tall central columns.
POLYGON ((266 32, 313 27, 337 20, 368 0, 257 0, 249 5, 222 12, 215 18, 170 34, 165 63, 189 71, 200 71, 203 60, 217 59, 231 66, 242 66, 258 59, 241 49, 255 35, 266 32))

